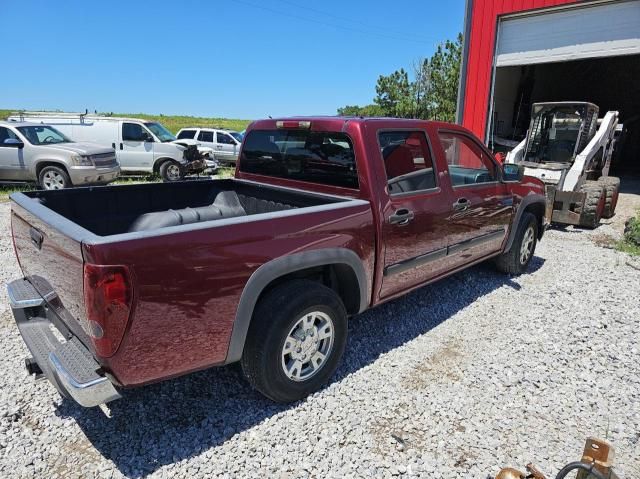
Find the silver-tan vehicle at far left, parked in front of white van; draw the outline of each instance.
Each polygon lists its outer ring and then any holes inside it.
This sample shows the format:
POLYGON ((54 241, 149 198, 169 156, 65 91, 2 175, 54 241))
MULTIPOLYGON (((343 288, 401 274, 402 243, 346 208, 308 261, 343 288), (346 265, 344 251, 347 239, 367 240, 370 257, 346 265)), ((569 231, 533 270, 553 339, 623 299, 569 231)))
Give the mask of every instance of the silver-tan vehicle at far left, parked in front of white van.
POLYGON ((112 148, 72 142, 48 125, 0 121, 0 181, 35 181, 55 190, 104 185, 119 174, 112 148))

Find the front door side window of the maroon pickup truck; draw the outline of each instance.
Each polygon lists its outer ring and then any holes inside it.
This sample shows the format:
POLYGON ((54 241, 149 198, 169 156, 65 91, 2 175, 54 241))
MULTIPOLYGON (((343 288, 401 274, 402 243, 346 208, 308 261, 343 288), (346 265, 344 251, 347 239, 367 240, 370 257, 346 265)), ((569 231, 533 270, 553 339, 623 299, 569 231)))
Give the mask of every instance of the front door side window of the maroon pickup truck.
POLYGON ((496 181, 496 165, 473 139, 466 135, 439 132, 453 186, 496 181))

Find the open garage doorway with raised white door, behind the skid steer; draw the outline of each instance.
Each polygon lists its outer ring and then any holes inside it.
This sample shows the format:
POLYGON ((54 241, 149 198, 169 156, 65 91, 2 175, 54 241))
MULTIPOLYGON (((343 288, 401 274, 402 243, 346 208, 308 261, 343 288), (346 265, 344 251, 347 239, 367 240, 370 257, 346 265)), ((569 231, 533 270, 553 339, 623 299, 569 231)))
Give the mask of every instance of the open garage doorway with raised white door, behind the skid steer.
POLYGON ((620 112, 625 131, 614 171, 640 174, 640 1, 597 2, 499 25, 488 143, 506 151, 524 138, 531 105, 587 101, 620 112))

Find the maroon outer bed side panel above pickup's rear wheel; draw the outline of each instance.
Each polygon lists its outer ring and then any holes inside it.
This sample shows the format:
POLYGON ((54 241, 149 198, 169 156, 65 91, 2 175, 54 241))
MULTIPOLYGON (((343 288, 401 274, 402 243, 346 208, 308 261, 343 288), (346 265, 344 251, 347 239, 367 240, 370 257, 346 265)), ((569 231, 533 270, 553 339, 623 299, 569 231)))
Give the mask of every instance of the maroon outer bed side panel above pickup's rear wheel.
POLYGON ((222 364, 240 296, 258 267, 295 252, 347 248, 362 260, 370 284, 373 235, 371 209, 359 204, 87 245, 88 262, 126 264, 134 278, 128 330, 116 354, 101 362, 124 386, 222 364))

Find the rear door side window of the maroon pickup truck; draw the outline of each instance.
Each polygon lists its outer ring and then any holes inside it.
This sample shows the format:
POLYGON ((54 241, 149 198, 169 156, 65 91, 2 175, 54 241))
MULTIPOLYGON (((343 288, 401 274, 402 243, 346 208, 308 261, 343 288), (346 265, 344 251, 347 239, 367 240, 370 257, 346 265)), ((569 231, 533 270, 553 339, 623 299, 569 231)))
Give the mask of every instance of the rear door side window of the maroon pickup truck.
POLYGON ((389 194, 436 187, 431 150, 422 131, 382 131, 378 141, 387 172, 389 194))

